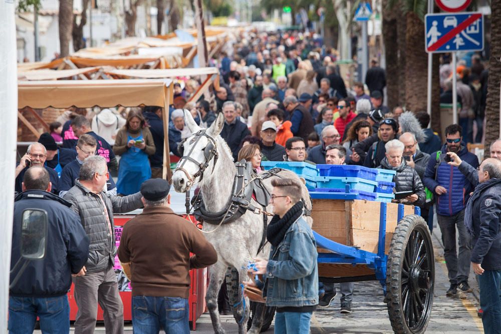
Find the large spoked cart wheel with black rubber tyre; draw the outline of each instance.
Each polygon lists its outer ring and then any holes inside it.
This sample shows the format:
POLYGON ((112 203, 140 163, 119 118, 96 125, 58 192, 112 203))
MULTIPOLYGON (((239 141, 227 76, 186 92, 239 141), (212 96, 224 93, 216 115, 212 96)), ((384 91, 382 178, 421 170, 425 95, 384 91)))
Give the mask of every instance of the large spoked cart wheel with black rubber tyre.
POLYGON ((424 333, 435 287, 435 257, 428 226, 417 215, 398 222, 388 253, 388 315, 395 333, 424 333))

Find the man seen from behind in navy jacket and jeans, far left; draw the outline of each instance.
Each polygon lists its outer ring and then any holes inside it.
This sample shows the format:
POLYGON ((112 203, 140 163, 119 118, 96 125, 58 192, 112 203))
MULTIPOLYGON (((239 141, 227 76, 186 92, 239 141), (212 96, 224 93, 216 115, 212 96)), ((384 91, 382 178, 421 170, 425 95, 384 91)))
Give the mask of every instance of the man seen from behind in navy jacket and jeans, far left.
MULTIPOLYGON (((51 186, 49 172, 43 166, 31 167, 23 178, 23 192, 15 199, 11 270, 22 258, 26 210, 47 213, 47 232, 39 228, 40 234, 34 237, 34 243, 45 239, 47 244, 43 259, 23 259, 26 269, 22 273, 16 270, 11 275, 11 284, 14 284, 9 289, 10 333, 33 333, 37 315, 42 332, 70 332, 67 293, 71 274, 79 273, 87 261, 89 238, 80 224, 80 217, 70 209, 71 204, 52 194, 51 186), (19 279, 14 281, 19 274, 19 279)), ((39 249, 43 245, 28 246, 39 249)))

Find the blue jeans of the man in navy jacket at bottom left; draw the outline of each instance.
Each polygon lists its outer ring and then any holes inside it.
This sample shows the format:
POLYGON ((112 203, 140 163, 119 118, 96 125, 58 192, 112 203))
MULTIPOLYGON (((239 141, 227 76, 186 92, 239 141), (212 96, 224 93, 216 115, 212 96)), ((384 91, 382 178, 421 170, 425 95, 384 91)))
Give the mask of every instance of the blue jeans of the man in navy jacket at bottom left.
POLYGON ((65 294, 59 297, 9 297, 9 333, 33 333, 37 316, 42 333, 70 332, 70 304, 65 294))

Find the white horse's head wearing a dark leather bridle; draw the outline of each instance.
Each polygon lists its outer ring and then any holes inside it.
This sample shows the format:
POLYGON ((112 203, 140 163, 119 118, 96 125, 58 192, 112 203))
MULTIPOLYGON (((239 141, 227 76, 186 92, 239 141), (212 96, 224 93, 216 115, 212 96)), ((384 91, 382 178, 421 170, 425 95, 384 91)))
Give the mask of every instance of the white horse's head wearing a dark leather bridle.
POLYGON ((191 113, 184 110, 184 122, 192 135, 178 147, 182 157, 172 175, 172 184, 177 192, 185 192, 187 188, 199 182, 204 173, 212 173, 218 157, 216 137, 222 130, 224 117, 220 113, 208 129, 201 129, 196 125, 191 113))

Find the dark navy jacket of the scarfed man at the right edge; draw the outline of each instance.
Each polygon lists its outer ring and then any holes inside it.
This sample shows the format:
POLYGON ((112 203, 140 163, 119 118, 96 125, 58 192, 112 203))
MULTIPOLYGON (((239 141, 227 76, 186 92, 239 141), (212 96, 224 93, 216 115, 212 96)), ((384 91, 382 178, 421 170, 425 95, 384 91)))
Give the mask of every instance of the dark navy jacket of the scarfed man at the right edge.
POLYGON ((501 269, 501 180, 482 190, 473 202, 471 262, 484 270, 501 269))

